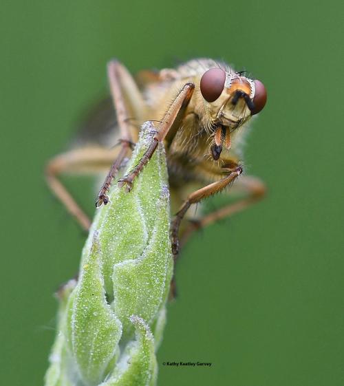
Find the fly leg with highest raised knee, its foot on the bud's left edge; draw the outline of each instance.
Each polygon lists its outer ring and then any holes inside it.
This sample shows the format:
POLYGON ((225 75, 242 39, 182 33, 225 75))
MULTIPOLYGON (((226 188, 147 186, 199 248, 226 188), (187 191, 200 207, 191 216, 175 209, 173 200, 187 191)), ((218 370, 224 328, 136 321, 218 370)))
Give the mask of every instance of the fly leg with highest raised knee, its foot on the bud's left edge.
MULTIPOLYGON (((133 81, 133 78, 123 65, 116 60, 110 61, 107 65, 107 75, 120 128, 121 149, 100 188, 96 200, 97 208, 102 204, 106 205, 109 202, 107 193, 109 193, 111 183, 133 143, 131 124, 129 122, 130 114, 133 114, 136 119, 141 121, 142 116, 144 116, 144 111, 146 110, 144 100, 135 81, 133 81)), ((137 133, 134 133, 134 135, 136 137, 135 140, 137 140, 137 133)))

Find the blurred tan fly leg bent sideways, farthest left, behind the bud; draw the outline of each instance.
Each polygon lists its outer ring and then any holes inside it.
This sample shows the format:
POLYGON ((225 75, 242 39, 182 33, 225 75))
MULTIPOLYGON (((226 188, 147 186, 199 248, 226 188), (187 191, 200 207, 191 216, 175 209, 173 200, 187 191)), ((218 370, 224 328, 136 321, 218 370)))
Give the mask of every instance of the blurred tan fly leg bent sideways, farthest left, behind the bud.
POLYGON ((117 154, 118 147, 114 149, 85 147, 62 153, 50 160, 45 167, 47 185, 84 230, 88 230, 91 225, 89 217, 80 208, 58 177, 65 173, 98 174, 106 171, 117 154))

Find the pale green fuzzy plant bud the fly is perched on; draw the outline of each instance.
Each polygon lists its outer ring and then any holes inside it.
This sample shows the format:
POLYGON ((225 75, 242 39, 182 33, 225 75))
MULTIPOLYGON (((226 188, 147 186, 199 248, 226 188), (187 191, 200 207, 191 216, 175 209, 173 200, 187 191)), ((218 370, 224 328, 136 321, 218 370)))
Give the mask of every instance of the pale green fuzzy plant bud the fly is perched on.
MULTIPOLYGON (((126 173, 156 129, 142 126, 126 173)), ((155 350, 173 273, 169 187, 159 144, 127 193, 116 184, 98 209, 75 288, 60 299, 58 335, 46 386, 154 385, 155 350)))

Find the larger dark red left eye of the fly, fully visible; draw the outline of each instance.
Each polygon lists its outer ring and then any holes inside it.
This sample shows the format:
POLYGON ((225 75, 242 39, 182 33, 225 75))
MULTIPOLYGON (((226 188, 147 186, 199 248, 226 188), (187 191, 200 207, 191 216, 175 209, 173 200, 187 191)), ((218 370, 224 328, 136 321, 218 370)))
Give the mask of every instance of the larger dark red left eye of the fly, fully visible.
POLYGON ((211 103, 217 100, 224 89, 226 73, 223 69, 212 68, 204 72, 201 78, 201 93, 203 98, 211 103))

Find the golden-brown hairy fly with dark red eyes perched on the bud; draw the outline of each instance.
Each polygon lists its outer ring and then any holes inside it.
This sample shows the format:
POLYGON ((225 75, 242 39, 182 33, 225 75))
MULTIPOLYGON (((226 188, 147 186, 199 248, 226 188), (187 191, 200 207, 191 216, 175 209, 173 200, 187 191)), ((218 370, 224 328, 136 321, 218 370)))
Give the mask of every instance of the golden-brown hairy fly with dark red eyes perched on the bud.
MULTIPOLYGON (((171 224, 173 255, 178 254, 180 225, 191 204, 223 191, 233 182, 233 188, 243 193, 237 201, 204 215, 197 222, 184 224, 181 240, 195 228, 240 211, 264 195, 265 187, 259 179, 241 175, 241 151, 250 120, 266 104, 266 89, 261 81, 208 58, 193 59, 175 69, 142 71, 136 79, 113 60, 108 64, 107 74, 111 110, 116 111, 117 125, 93 120, 96 136, 106 138, 106 145, 100 146, 97 141, 98 144, 72 149, 52 159, 46 168, 50 188, 85 230, 90 226, 89 218, 61 183, 59 175, 107 170, 96 199, 96 206, 106 205, 111 183, 147 120, 158 122, 156 133, 140 162, 118 184, 130 191, 158 143, 164 142, 171 201, 179 208, 171 224), (114 141, 118 146, 112 146, 114 141)), ((109 120, 109 114, 103 116, 109 120)))

